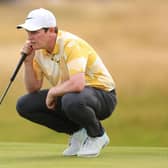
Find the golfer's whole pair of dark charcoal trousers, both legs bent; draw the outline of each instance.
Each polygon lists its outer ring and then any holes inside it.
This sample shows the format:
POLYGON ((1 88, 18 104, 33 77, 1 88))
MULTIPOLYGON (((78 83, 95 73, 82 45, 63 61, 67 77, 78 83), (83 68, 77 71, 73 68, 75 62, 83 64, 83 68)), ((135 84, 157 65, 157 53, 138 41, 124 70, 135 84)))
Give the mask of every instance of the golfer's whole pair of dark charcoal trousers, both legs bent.
POLYGON ((91 137, 103 135, 100 120, 108 118, 117 104, 114 90, 85 87, 82 92, 57 97, 55 110, 50 110, 45 103, 47 93, 48 90, 41 90, 20 97, 16 109, 32 122, 67 134, 85 128, 91 137))

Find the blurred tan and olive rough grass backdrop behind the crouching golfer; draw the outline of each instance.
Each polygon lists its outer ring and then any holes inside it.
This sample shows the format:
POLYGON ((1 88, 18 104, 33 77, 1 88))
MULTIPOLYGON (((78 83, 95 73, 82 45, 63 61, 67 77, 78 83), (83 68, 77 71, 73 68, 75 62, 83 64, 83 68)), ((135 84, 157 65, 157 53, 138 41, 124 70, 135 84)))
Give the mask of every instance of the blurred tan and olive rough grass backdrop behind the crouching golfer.
MULTIPOLYGON (((111 145, 168 146, 168 1, 1 0, 1 94, 27 38, 16 25, 39 7, 56 15, 60 29, 88 41, 113 75, 118 106, 103 121, 111 145)), ((67 143, 68 136, 18 116, 15 104, 24 93, 22 67, 0 106, 0 141, 67 143)))

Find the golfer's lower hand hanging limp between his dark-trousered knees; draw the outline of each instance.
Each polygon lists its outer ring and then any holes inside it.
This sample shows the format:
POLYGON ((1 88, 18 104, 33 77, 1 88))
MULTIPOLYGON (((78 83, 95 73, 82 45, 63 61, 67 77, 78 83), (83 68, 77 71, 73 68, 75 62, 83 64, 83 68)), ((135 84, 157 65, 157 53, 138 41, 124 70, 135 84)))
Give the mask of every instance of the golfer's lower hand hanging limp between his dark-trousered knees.
POLYGON ((46 105, 49 109, 54 110, 56 106, 56 96, 54 96, 54 88, 48 91, 46 105))

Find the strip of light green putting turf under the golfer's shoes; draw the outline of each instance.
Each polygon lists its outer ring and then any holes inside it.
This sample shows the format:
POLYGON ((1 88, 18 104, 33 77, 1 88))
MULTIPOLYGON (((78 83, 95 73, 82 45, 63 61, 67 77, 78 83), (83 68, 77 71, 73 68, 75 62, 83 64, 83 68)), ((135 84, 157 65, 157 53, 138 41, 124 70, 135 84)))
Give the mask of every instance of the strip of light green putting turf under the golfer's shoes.
POLYGON ((0 143, 0 168, 166 168, 168 148, 106 147, 97 158, 63 157, 66 146, 0 143))

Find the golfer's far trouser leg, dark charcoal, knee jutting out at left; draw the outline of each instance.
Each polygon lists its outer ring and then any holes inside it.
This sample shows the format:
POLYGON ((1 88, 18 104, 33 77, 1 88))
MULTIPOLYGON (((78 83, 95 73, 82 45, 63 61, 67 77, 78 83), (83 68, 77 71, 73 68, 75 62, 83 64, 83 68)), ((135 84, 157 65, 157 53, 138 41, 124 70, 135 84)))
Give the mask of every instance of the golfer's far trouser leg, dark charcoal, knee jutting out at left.
POLYGON ((16 105, 18 113, 32 121, 57 132, 72 134, 79 129, 79 125, 70 121, 61 111, 61 100, 58 100, 58 109, 53 111, 46 107, 45 99, 48 90, 34 92, 21 97, 16 105))

